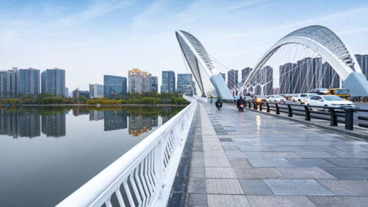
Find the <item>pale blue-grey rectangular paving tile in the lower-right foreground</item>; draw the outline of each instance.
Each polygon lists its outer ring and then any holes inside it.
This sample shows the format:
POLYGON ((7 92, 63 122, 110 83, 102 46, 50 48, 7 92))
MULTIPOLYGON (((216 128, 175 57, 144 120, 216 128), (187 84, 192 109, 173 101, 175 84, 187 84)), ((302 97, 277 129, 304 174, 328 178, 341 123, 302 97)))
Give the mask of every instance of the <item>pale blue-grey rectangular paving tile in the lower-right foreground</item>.
POLYGON ((273 179, 265 180, 275 195, 294 196, 333 196, 334 194, 312 179, 273 179))

